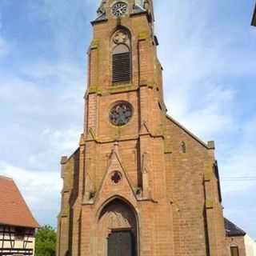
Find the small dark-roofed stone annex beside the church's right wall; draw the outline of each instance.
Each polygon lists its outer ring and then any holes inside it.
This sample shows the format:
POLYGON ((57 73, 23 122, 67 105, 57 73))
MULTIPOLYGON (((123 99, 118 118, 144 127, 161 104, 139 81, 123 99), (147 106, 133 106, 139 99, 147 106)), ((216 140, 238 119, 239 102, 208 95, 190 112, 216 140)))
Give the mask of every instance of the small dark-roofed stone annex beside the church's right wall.
POLYGON ((226 242, 231 256, 247 256, 245 236, 246 232, 225 218, 226 242))

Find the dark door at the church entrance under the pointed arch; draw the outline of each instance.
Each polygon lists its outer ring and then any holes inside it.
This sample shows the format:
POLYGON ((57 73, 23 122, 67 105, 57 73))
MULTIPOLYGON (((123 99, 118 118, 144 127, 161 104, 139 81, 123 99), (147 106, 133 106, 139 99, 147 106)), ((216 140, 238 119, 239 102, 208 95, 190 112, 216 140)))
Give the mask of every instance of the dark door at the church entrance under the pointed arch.
POLYGON ((132 232, 112 232, 108 238, 107 256, 136 256, 136 246, 132 232))

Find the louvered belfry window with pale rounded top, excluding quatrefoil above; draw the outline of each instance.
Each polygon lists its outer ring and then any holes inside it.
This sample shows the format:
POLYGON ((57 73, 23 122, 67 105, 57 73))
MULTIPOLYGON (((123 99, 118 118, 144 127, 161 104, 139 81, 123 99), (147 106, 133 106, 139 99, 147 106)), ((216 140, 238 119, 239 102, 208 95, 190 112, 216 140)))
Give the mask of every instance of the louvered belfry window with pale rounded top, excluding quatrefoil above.
POLYGON ((130 81, 130 49, 124 44, 114 48, 112 56, 113 82, 130 81))

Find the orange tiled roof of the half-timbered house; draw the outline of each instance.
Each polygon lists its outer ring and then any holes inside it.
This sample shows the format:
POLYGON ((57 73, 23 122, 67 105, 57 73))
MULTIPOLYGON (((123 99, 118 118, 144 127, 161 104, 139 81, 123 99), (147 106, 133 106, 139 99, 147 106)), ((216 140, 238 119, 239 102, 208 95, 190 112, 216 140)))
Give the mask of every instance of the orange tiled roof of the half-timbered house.
POLYGON ((11 178, 0 176, 0 224, 37 228, 22 194, 11 178))

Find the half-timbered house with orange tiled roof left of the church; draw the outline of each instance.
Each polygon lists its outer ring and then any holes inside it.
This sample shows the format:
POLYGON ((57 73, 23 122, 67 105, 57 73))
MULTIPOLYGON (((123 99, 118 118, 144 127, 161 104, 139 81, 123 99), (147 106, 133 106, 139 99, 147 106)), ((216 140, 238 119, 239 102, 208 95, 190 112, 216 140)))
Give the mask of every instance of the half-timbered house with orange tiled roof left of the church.
POLYGON ((36 228, 14 181, 0 176, 0 256, 33 256, 36 228))

